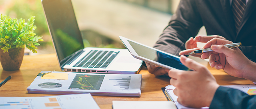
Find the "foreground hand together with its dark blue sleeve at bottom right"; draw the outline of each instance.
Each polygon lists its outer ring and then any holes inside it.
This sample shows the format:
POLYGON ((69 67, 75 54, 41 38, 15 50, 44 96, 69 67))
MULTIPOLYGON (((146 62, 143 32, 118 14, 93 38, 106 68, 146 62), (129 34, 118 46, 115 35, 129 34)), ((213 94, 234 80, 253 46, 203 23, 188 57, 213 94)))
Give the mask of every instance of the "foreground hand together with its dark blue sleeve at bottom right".
POLYGON ((188 107, 210 109, 255 109, 256 95, 249 96, 237 89, 219 86, 202 64, 181 56, 180 61, 193 71, 169 71, 170 84, 176 89, 173 93, 178 96, 177 101, 188 107))

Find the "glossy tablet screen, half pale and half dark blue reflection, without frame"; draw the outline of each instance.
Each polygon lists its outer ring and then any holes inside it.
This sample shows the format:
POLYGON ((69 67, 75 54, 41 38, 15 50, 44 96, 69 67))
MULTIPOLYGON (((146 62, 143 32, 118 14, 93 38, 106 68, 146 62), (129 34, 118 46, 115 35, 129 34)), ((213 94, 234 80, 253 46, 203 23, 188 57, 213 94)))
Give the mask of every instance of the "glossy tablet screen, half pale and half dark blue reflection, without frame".
POLYGON ((160 51, 156 51, 154 49, 145 47, 143 45, 134 43, 129 40, 128 40, 128 42, 139 56, 159 62, 164 65, 171 66, 176 69, 189 70, 185 65, 183 65, 180 62, 180 58, 168 55, 168 54, 160 52, 160 51))

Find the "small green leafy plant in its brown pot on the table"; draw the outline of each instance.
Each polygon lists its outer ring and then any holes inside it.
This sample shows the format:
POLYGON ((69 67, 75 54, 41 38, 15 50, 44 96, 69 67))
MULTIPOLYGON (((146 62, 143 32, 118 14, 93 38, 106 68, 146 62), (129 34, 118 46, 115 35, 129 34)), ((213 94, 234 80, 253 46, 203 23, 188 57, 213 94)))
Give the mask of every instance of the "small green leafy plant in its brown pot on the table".
POLYGON ((27 22, 2 15, 0 18, 0 61, 4 70, 19 70, 24 56, 25 45, 33 53, 37 53, 35 46, 43 41, 41 36, 35 36, 35 16, 31 16, 27 22))

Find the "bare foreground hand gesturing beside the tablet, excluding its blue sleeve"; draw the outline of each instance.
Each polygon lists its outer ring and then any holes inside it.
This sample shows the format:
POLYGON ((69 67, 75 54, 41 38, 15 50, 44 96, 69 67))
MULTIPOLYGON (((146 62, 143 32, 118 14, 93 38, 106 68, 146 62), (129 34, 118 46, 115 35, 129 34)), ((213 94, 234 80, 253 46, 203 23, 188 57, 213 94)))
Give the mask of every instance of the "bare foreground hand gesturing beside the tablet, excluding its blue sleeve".
POLYGON ((214 76, 205 66, 190 58, 181 56, 180 61, 193 71, 169 71, 170 84, 176 87, 173 93, 178 96, 177 101, 192 108, 210 106, 219 87, 214 76))

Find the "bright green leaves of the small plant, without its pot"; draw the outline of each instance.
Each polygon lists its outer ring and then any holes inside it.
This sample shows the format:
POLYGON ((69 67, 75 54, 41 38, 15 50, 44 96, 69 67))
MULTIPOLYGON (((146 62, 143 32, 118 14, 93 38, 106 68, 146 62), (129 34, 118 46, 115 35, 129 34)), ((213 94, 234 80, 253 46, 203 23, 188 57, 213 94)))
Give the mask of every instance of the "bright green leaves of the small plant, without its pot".
POLYGON ((35 46, 40 45, 38 41, 43 41, 42 36, 35 36, 34 25, 35 16, 31 16, 27 22, 25 19, 19 20, 2 15, 0 17, 0 48, 8 52, 12 48, 26 47, 33 53, 37 53, 35 46))

